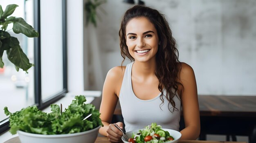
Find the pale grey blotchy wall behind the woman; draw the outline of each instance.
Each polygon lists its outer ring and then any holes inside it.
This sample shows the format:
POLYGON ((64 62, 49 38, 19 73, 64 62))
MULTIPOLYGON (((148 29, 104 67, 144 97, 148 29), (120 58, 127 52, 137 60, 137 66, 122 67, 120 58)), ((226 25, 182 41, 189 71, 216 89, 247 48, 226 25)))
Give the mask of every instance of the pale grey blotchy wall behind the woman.
MULTIPOLYGON (((144 0, 166 15, 180 61, 195 70, 200 95, 256 95, 255 0, 144 0)), ((103 77, 119 66, 119 26, 132 7, 108 0, 99 11, 97 39, 103 77)))

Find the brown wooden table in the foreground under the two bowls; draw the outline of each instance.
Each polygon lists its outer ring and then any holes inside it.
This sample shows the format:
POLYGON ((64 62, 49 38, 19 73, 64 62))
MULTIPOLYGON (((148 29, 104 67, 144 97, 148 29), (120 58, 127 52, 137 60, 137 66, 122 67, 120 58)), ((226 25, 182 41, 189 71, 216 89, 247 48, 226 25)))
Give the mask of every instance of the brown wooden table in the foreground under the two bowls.
MULTIPOLYGON (((18 136, 9 139, 8 141, 5 141, 4 143, 20 143, 20 139, 18 136)), ((86 141, 85 141, 86 143, 86 141)), ((108 141, 107 137, 97 137, 97 140, 95 143, 110 143, 108 141)), ((179 141, 179 143, 246 143, 246 142, 234 142, 234 141, 190 141, 190 140, 184 140, 184 141, 179 141)))

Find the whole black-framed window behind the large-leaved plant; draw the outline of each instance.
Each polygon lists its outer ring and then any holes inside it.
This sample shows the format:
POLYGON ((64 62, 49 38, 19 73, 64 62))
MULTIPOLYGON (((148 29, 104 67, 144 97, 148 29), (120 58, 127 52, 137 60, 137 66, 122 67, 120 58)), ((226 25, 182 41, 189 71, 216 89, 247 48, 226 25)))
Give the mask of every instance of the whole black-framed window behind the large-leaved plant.
POLYGON ((1 2, 3 10, 8 4, 19 5, 13 16, 25 19, 39 32, 39 37, 12 35, 35 65, 28 74, 17 72, 4 53, 4 68, 0 68, 0 133, 9 126, 5 106, 11 112, 35 104, 43 109, 67 92, 66 1, 8 0, 1 2))

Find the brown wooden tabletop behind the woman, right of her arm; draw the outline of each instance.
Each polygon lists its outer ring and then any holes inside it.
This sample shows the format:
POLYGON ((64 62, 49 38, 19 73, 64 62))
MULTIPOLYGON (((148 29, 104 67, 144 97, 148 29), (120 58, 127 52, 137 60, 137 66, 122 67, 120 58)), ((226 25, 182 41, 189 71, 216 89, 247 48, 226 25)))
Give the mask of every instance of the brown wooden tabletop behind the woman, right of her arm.
POLYGON ((199 95, 200 116, 256 117, 256 96, 199 95))

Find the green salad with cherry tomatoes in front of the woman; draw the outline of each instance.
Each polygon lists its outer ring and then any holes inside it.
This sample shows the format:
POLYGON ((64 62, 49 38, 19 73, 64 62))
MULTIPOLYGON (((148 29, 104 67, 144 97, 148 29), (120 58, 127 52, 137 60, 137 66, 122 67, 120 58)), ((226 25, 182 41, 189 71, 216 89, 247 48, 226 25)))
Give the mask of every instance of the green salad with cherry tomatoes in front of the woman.
POLYGON ((131 138, 128 140, 130 143, 165 143, 173 141, 174 138, 168 131, 162 130, 161 125, 151 123, 145 127, 144 130, 139 130, 138 133, 132 133, 131 138))

